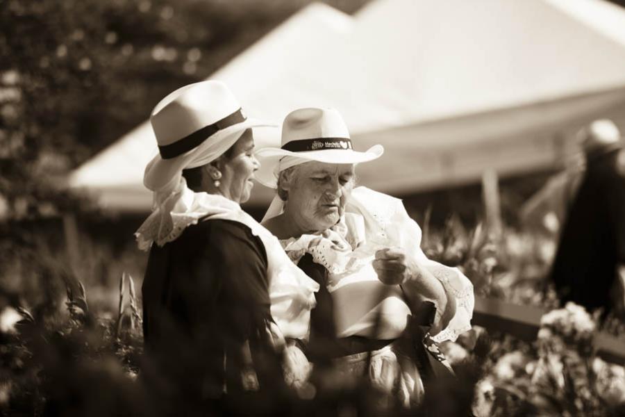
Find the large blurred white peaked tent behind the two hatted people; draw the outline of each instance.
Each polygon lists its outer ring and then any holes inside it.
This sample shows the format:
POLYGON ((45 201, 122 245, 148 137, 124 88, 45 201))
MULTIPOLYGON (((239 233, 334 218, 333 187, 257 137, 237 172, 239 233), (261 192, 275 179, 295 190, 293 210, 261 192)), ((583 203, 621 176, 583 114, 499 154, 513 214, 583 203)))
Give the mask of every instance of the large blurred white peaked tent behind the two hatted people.
MULTIPOLYGON (((377 0, 353 17, 301 10, 210 76, 249 115, 331 106, 356 147, 386 153, 362 183, 399 195, 566 165, 572 133, 625 114, 625 11, 601 0, 377 0), (496 35, 493 35, 496 34, 496 35)), ((118 211, 148 211, 144 123, 72 173, 118 211)), ((278 142, 278 131, 260 145, 278 142)), ((152 153, 151 153, 152 152, 152 153)), ((271 192, 255 188, 251 205, 271 192)))

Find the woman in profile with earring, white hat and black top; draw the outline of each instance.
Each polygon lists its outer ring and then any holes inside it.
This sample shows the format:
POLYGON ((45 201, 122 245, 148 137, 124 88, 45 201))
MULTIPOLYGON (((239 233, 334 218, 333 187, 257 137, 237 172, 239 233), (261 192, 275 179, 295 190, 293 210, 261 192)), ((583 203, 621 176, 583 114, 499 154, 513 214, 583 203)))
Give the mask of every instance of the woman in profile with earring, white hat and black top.
POLYGON ((306 335, 318 285, 239 205, 259 166, 251 129, 267 125, 247 119, 218 81, 172 92, 151 124, 159 154, 144 184, 155 205, 136 232, 150 250, 142 295, 153 368, 144 379, 164 407, 275 389, 276 348, 282 335, 306 335))

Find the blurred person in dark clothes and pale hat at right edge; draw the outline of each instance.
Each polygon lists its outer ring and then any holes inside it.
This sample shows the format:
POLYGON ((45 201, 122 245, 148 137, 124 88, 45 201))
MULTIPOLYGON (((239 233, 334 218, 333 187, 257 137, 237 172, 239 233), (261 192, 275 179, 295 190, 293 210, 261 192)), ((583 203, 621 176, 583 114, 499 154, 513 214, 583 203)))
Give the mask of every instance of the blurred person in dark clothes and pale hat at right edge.
POLYGON ((569 204, 551 279, 562 303, 623 313, 625 149, 617 126, 596 120, 578 132, 586 168, 569 204))

